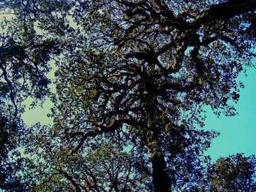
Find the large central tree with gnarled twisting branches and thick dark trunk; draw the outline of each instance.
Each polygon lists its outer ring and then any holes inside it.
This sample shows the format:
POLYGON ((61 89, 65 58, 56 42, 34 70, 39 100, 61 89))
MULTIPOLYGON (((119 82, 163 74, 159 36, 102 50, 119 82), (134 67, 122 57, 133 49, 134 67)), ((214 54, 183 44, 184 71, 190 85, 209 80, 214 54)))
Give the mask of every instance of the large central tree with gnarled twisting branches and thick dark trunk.
MULTIPOLYGON (((17 9, 15 2, 4 2, 17 9)), ((101 137, 120 140, 117 151, 124 156, 122 150, 132 147, 140 158, 133 170, 149 170, 153 191, 199 188, 208 163, 203 151, 217 136, 198 128, 203 107, 211 106, 217 115, 236 114, 233 103, 243 86, 236 77, 255 57, 255 2, 30 0, 20 7, 20 18, 28 23, 24 31, 37 23, 46 42, 49 37, 59 47, 53 51, 58 61, 54 125, 33 130, 34 150, 46 155, 51 175, 77 191, 87 190, 86 179, 78 178, 76 166, 65 159, 75 156, 82 164, 86 147, 101 137)), ((84 170, 97 185, 100 177, 84 170)))

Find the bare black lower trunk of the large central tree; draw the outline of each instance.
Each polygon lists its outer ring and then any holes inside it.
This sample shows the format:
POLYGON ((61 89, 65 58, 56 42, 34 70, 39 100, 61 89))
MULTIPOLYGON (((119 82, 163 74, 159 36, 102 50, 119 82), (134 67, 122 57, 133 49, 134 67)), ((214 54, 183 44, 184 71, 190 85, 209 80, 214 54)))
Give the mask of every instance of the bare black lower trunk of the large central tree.
POLYGON ((153 186, 154 192, 170 192, 171 180, 166 171, 166 162, 162 154, 153 155, 152 160, 153 169, 153 186))

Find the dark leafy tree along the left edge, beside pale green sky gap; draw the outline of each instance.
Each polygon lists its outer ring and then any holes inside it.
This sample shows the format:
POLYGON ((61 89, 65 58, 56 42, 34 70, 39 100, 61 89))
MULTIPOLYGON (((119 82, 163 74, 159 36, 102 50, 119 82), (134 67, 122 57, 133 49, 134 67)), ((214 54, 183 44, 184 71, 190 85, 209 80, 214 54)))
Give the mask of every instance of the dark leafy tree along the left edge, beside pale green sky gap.
POLYGON ((0 189, 6 191, 24 189, 18 176, 23 169, 18 151, 25 129, 20 119, 23 101, 45 98, 50 83, 45 76, 50 70, 48 61, 59 53, 53 38, 36 33, 26 5, 0 2, 0 189))

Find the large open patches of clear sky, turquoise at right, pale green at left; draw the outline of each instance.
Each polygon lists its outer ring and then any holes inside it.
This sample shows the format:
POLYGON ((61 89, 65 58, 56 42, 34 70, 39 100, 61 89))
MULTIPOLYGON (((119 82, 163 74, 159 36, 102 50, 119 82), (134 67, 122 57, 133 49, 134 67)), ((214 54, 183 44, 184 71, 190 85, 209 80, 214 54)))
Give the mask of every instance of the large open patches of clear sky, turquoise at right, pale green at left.
MULTIPOLYGON (((53 77, 53 72, 50 77, 53 77)), ((240 100, 236 104, 238 115, 234 117, 222 115, 217 118, 211 110, 207 113, 205 128, 214 129, 220 133, 220 136, 212 141, 211 148, 207 152, 213 161, 220 156, 236 153, 256 155, 256 69, 249 68, 247 77, 241 74, 239 79, 244 82, 245 88, 241 90, 240 100)), ((47 101, 43 108, 26 110, 23 120, 27 125, 37 122, 50 124, 52 120, 47 118, 47 113, 50 112, 51 107, 53 104, 47 101)))

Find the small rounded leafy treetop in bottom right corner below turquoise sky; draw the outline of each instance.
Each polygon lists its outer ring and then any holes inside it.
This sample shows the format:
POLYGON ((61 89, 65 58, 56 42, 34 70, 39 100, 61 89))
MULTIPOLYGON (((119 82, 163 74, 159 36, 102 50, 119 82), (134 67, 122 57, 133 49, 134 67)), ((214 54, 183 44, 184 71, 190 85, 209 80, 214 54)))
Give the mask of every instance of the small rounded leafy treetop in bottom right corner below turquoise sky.
POLYGON ((255 155, 241 153, 219 158, 213 165, 210 186, 213 191, 255 191, 255 155))

